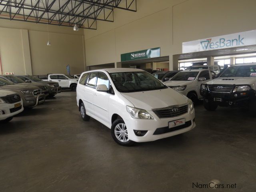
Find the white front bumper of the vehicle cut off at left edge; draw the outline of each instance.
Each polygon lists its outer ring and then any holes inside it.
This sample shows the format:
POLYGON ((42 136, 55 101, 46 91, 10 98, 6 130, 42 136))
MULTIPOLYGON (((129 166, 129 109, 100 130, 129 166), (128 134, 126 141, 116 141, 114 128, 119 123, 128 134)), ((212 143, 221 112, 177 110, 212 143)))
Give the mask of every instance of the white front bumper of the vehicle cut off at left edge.
POLYGON ((0 104, 0 120, 5 120, 9 117, 15 116, 24 110, 22 102, 16 102, 12 104, 3 103, 0 104), (21 106, 15 107, 15 104, 21 103, 21 106))

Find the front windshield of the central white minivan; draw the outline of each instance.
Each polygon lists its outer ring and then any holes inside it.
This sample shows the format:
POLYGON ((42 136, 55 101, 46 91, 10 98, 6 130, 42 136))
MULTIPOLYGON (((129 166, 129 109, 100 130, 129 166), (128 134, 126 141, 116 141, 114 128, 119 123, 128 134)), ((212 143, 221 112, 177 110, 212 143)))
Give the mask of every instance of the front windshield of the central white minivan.
POLYGON ((139 92, 167 88, 147 72, 118 72, 110 77, 119 92, 139 92))

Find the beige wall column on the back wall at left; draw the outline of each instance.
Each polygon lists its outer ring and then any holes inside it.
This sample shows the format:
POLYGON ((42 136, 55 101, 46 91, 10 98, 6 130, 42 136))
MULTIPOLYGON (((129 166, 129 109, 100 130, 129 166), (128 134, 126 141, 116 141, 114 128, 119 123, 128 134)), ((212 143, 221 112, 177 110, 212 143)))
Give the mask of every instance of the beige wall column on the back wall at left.
POLYGON ((24 60, 24 70, 26 75, 32 75, 32 66, 31 66, 31 56, 30 56, 30 46, 28 39, 28 30, 21 29, 21 40, 22 40, 22 49, 23 49, 23 60, 24 60))

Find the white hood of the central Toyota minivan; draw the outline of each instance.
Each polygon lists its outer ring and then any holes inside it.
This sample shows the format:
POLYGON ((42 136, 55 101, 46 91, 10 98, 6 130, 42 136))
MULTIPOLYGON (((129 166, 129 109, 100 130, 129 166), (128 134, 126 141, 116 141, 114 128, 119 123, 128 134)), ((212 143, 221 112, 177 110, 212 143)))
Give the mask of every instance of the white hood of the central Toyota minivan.
POLYGON ((185 96, 171 88, 121 94, 132 102, 136 108, 148 111, 156 108, 164 108, 187 103, 185 96))

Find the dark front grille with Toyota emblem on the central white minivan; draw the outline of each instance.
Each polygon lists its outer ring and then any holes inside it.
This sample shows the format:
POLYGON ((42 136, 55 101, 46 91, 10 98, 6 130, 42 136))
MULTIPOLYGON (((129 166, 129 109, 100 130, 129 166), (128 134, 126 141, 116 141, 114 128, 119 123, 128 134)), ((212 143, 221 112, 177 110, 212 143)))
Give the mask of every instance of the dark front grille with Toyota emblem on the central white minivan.
POLYGON ((159 118, 169 118, 169 117, 176 117, 188 112, 188 105, 184 105, 181 107, 177 106, 170 106, 166 108, 159 108, 159 109, 152 109, 152 111, 159 117, 159 118), (173 108, 177 108, 178 110, 173 110, 173 108))

